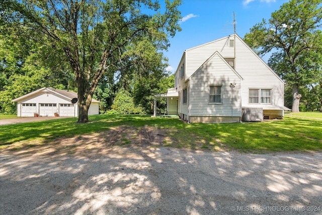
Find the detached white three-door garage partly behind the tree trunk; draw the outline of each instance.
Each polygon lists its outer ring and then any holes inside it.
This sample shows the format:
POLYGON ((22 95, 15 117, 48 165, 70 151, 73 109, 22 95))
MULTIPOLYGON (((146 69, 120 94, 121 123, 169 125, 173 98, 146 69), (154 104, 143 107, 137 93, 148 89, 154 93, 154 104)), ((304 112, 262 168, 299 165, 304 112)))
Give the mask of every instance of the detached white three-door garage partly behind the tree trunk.
MULTIPOLYGON (((78 102, 72 104, 71 100, 77 98, 77 93, 58 90, 54 88, 41 88, 28 93, 12 102, 17 102, 17 116, 78 116, 78 102)), ((92 99, 89 115, 99 114, 99 101, 92 99)))

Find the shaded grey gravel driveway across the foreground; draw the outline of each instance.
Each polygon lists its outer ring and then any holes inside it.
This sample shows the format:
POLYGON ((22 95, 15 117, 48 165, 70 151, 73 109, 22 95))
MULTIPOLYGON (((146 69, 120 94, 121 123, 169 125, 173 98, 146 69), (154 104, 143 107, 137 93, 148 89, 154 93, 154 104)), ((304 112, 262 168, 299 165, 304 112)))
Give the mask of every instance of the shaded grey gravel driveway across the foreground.
POLYGON ((87 150, 2 153, 0 214, 322 214, 322 153, 87 150))

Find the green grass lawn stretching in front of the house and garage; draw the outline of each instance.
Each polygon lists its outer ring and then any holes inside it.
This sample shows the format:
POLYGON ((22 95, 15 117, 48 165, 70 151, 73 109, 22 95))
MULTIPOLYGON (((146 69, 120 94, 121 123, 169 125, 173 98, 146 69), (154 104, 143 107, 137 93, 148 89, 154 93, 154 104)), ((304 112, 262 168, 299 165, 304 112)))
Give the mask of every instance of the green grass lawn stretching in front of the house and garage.
POLYGON ((252 153, 322 150, 322 120, 318 119, 285 116, 283 120, 217 124, 187 124, 176 118, 149 115, 96 115, 89 119, 91 122, 87 124, 77 124, 74 118, 62 118, 50 123, 0 126, 0 149, 35 143, 50 145, 57 137, 100 132, 120 125, 135 128, 146 125, 165 129, 169 138, 161 145, 166 147, 252 153))

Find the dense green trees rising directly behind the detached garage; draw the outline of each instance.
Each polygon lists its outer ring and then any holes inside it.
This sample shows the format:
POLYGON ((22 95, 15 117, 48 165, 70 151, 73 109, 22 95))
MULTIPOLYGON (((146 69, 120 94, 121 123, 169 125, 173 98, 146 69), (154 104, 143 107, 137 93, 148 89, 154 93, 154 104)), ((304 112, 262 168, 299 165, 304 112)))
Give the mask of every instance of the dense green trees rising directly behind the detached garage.
POLYGON ((0 111, 5 114, 17 112, 13 99, 39 88, 75 89, 67 65, 48 67, 42 60, 47 49, 24 33, 22 26, 0 26, 0 111))

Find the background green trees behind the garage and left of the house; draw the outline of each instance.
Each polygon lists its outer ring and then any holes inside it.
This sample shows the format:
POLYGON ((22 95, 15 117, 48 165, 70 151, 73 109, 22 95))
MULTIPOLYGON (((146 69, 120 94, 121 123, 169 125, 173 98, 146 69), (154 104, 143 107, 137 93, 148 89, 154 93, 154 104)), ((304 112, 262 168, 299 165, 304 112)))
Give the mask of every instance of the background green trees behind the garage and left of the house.
MULTIPOLYGON (((17 34, 0 32, 0 112, 17 113, 11 101, 42 87, 77 91, 68 65, 65 68, 47 66, 41 56, 42 44, 17 34)), ((101 101, 100 113, 153 113, 153 96, 166 93, 174 86, 174 75, 166 71, 167 59, 162 53, 154 57, 149 68, 129 68, 133 70, 118 71, 115 76, 100 80, 93 95, 101 101)), ((158 100, 157 108, 158 112, 165 113, 166 101, 158 100)))

